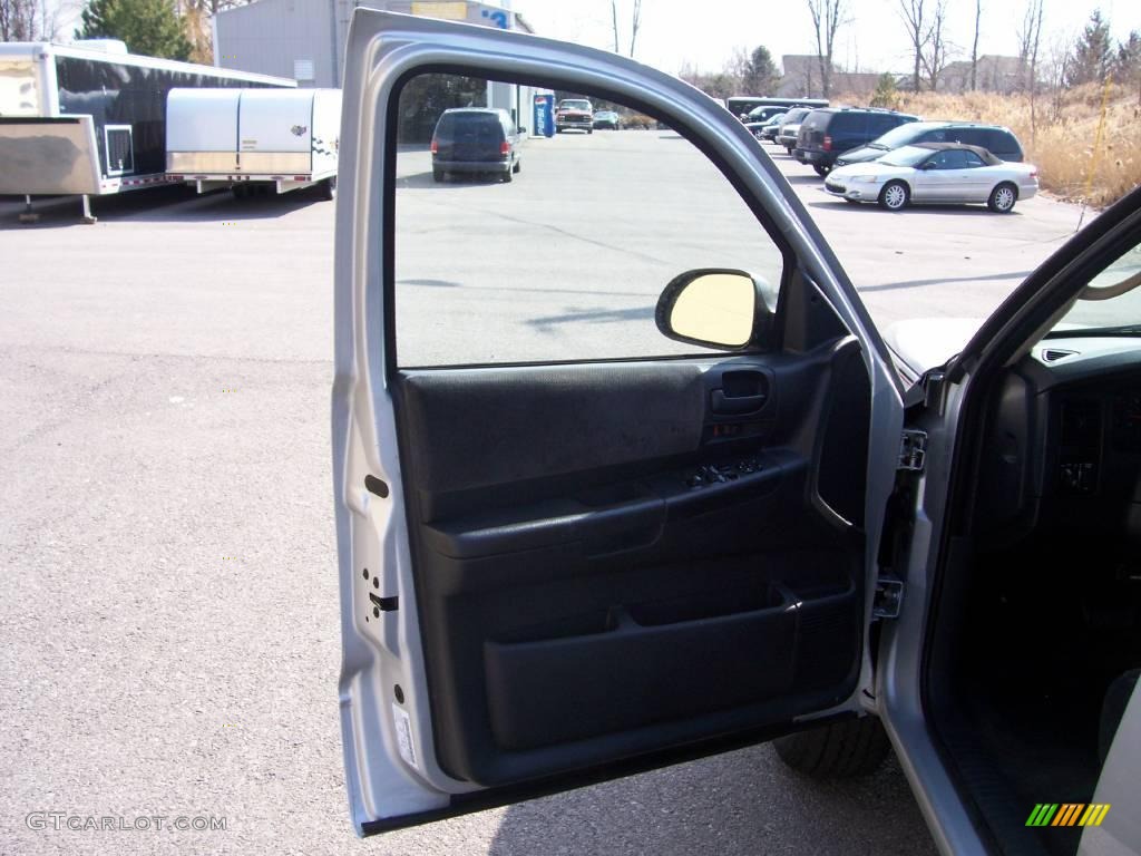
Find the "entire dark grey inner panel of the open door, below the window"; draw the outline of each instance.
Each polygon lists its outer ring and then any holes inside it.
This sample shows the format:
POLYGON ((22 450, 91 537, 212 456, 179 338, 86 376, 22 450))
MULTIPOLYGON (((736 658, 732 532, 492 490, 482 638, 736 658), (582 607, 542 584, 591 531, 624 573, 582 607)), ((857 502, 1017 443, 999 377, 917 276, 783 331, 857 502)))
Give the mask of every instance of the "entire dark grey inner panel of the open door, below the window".
POLYGON ((863 533, 815 492, 863 495, 855 342, 424 370, 395 391, 451 775, 542 777, 851 692, 863 533))

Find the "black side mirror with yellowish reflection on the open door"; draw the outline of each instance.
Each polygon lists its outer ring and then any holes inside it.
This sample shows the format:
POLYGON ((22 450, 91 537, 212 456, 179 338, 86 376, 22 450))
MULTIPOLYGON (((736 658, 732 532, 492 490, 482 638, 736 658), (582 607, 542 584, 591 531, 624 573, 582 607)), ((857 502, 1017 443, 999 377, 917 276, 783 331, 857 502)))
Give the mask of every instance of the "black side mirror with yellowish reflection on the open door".
POLYGON ((721 268, 675 276, 654 313, 663 336, 721 350, 767 346, 774 315, 761 283, 744 270, 721 268))

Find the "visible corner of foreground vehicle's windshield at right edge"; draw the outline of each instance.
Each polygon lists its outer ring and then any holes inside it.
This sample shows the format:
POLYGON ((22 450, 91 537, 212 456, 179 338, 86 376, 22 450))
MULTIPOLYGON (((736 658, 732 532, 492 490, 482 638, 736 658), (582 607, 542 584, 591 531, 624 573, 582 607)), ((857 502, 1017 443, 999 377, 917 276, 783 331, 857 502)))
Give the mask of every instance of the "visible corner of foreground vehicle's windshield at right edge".
POLYGON ((1141 336, 1141 244, 1090 280, 1046 338, 1141 336))

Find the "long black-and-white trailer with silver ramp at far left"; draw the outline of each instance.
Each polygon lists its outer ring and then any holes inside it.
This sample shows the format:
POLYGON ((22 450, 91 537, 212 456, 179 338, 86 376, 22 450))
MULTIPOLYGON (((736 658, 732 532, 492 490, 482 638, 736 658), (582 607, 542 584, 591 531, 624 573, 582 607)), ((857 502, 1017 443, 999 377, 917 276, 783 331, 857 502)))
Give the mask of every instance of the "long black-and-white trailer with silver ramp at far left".
POLYGON ((0 43, 0 194, 89 196, 167 183, 167 94, 294 89, 265 74, 127 53, 120 41, 0 43))

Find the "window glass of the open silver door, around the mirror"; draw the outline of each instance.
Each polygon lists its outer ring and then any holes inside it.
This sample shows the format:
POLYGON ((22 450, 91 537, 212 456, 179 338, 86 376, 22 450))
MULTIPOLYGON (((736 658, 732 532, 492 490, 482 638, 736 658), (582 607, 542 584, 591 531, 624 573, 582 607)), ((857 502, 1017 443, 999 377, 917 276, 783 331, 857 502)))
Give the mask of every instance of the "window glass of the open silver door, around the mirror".
MULTIPOLYGON (((549 91, 424 75, 402 92, 394 270, 400 366, 710 354, 666 339, 655 323, 662 290, 695 268, 745 270, 776 305, 777 245, 728 179, 677 132, 646 122, 650 128, 622 134, 565 130, 491 145, 482 137, 482 116, 494 116, 487 97, 526 105, 519 124, 535 128, 531 105, 549 91), (464 131, 466 123, 472 128, 464 131)), ((623 119, 637 113, 606 106, 623 119)))

